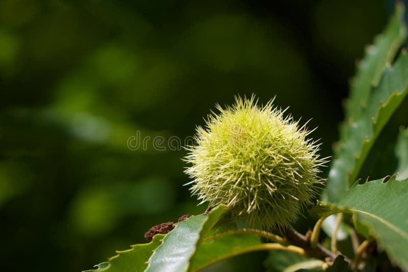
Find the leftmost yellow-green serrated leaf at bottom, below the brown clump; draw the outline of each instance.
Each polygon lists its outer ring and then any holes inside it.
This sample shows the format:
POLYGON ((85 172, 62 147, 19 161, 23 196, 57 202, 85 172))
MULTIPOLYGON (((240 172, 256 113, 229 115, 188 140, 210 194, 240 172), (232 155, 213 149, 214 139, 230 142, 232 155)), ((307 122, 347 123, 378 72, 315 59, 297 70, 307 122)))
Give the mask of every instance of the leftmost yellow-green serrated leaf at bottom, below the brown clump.
POLYGON ((161 244, 163 234, 156 234, 151 242, 143 244, 134 244, 131 249, 125 251, 116 251, 117 255, 109 258, 109 262, 103 262, 96 265, 97 269, 86 270, 83 272, 108 271, 123 272, 133 271, 141 272, 147 267, 147 260, 153 251, 161 244))

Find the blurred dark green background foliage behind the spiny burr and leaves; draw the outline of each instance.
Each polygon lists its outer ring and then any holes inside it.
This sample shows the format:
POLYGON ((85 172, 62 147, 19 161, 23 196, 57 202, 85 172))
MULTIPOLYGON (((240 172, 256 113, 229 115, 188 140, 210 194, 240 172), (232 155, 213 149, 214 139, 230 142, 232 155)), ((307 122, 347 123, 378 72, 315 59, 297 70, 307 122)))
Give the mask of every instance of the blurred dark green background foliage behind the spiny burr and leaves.
MULTIPOLYGON (((236 94, 276 95, 295 119, 313 118, 331 155, 354 62, 392 10, 385 0, 0 0, 1 270, 89 269, 151 226, 205 210, 182 186, 186 151, 168 141, 236 94), (137 131, 145 149, 127 146, 137 131)), ((263 270, 265 257, 209 270, 263 270)))

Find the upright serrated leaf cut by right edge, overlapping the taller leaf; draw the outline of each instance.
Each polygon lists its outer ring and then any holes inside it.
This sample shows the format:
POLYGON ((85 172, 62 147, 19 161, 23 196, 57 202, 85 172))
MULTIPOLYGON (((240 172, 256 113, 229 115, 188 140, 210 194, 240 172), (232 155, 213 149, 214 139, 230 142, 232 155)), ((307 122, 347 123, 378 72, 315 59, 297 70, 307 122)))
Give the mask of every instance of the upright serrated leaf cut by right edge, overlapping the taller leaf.
POLYGON ((336 153, 327 181, 330 202, 337 202, 356 180, 380 131, 408 94, 407 87, 408 56, 401 53, 395 65, 385 70, 362 117, 350 124, 348 138, 336 153))

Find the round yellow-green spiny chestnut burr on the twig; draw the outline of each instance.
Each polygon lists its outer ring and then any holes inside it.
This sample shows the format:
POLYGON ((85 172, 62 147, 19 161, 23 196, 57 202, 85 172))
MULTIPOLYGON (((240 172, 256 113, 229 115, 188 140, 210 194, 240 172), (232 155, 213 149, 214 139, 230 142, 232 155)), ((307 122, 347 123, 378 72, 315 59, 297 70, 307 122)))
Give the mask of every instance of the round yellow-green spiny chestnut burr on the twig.
MULTIPOLYGON (((233 106, 208 116, 189 146, 186 173, 192 195, 210 207, 225 204, 248 227, 282 229, 297 219, 317 194, 320 144, 273 100, 236 97, 233 106)), ((201 204, 200 203, 200 204, 201 204)))

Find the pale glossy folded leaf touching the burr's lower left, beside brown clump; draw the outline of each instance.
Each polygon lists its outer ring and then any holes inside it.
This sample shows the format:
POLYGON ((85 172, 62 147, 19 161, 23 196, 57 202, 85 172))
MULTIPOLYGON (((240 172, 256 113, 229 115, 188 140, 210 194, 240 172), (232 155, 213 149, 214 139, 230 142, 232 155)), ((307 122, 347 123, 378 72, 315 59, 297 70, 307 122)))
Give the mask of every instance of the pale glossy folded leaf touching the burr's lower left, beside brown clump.
POLYGON ((177 224, 151 255, 146 271, 187 271, 200 241, 208 235, 226 210, 225 205, 219 205, 208 215, 192 216, 177 224))

